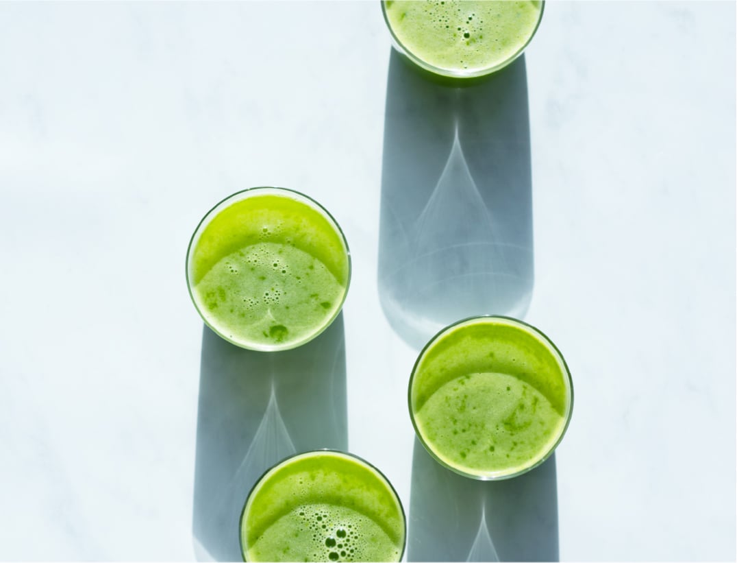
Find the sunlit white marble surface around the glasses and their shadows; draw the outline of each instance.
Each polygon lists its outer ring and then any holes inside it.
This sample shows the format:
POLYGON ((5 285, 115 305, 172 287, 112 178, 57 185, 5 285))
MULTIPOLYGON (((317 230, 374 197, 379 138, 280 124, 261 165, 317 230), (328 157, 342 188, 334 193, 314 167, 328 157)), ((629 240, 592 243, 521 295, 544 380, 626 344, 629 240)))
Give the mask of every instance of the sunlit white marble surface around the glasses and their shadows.
MULTIPOLYGON (((735 15, 549 1, 525 55, 525 319, 576 389, 563 560, 736 557, 735 15)), ((346 232, 349 449, 409 507, 417 350, 377 288, 390 52, 374 1, 0 4, 0 559, 194 559, 184 255, 254 185, 346 232)))

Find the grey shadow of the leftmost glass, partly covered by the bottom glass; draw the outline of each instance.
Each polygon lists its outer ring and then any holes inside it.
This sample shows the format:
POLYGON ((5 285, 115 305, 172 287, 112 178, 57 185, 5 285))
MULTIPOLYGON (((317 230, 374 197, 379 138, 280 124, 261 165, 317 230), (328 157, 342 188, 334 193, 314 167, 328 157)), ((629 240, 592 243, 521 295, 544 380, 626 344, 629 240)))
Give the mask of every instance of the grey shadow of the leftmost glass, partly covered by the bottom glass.
POLYGON ((192 515, 199 561, 241 561, 248 491, 284 457, 348 449, 343 314, 312 342, 282 352, 202 335, 192 515))

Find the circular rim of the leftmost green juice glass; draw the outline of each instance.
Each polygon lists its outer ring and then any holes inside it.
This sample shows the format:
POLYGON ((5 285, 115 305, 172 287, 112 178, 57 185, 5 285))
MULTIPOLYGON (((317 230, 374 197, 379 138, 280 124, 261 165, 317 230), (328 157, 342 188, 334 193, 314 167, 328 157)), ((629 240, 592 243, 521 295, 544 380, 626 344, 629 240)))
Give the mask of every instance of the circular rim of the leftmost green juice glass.
POLYGON ((323 205, 315 200, 314 198, 311 198, 310 196, 307 196, 306 193, 302 193, 298 190, 293 190, 288 187, 276 187, 276 186, 255 186, 255 187, 246 187, 243 190, 238 190, 237 192, 231 193, 229 196, 226 196, 225 198, 218 201, 214 206, 212 206, 207 213, 203 215, 203 217, 200 219, 200 222, 197 224, 197 227, 195 227, 195 231, 192 232, 192 236, 189 238, 189 244, 187 245, 186 249, 186 258, 184 260, 184 276, 186 279, 186 287, 187 291, 189 292, 189 299, 192 300, 192 304, 195 305, 195 309, 197 310, 198 314, 200 315, 200 318, 203 320, 203 322, 215 333, 217 336, 220 336, 220 338, 226 340, 227 342, 230 342, 232 345, 238 346, 239 348, 244 348, 245 350, 254 350, 256 352, 281 352, 283 350, 293 350, 294 348, 298 348, 301 345, 307 344, 307 342, 312 341, 313 339, 317 338, 322 334, 330 325, 332 325, 332 322, 335 321, 335 319, 338 318, 338 315, 340 315, 340 312, 343 311, 343 305, 346 303, 346 297, 348 297, 348 289, 351 285, 351 276, 353 272, 353 266, 352 266, 352 260, 351 260, 351 249, 348 246, 348 241, 346 239, 346 235, 343 232, 343 229, 340 227, 340 224, 338 221, 335 220, 335 217, 332 216, 332 214, 326 210, 323 205), (310 205, 313 209, 318 211, 318 213, 321 213, 321 215, 324 215, 324 217, 327 219, 330 226, 335 230, 335 233, 338 235, 338 238, 340 238, 340 241, 343 243, 343 248, 346 251, 346 260, 348 262, 348 275, 346 277, 346 290, 343 291, 343 296, 340 298, 340 305, 335 309, 335 314, 332 315, 332 317, 329 317, 321 327, 315 331, 310 333, 307 338, 298 340, 297 342, 291 342, 287 343, 287 345, 271 345, 271 346, 256 346, 256 345, 247 345, 242 342, 237 342, 234 339, 228 338, 225 334, 220 332, 217 327, 213 325, 213 323, 209 322, 209 320, 206 319, 203 312, 200 310, 200 307, 197 303, 197 300, 195 299, 195 295, 192 292, 192 280, 190 279, 190 265, 191 265, 191 258, 195 246, 195 241, 199 241, 198 235, 201 235, 204 227, 206 227, 209 224, 209 221, 212 221, 212 218, 217 216, 218 210, 221 208, 227 207, 225 204, 230 201, 242 201, 243 199, 246 199, 251 196, 257 195, 257 193, 274 193, 276 195, 281 195, 282 197, 290 197, 292 199, 295 199, 296 201, 300 201, 300 199, 304 200, 303 202, 307 205, 310 205))

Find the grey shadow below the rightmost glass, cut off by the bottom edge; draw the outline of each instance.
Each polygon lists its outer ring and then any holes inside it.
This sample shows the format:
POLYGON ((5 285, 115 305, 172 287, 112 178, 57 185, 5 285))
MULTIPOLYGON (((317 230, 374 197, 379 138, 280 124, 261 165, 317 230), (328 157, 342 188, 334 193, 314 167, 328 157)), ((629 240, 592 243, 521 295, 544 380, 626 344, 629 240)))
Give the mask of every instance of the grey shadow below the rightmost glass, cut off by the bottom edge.
POLYGON ((408 561, 557 561, 555 454, 519 477, 477 481, 415 439, 409 514, 408 561))

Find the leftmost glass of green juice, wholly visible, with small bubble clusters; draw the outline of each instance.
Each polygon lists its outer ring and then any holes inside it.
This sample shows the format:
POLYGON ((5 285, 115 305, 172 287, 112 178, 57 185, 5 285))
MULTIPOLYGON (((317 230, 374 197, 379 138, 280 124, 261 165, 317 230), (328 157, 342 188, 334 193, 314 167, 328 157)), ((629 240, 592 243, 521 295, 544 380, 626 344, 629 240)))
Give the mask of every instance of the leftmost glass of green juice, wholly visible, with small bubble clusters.
POLYGON ((204 322, 250 350, 296 348, 340 313, 351 277, 348 243, 317 201, 283 187, 223 199, 200 221, 186 280, 204 322))

